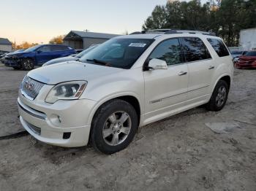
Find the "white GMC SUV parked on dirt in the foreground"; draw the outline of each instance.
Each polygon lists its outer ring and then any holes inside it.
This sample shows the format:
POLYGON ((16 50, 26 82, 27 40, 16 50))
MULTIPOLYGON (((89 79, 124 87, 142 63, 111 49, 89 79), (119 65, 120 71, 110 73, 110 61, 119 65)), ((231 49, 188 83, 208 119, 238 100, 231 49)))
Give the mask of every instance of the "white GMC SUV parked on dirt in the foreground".
POLYGON ((233 62, 217 36, 147 31, 118 36, 79 61, 30 71, 20 85, 23 127, 62 147, 91 142, 106 154, 124 149, 138 127, 195 106, 225 106, 233 62))

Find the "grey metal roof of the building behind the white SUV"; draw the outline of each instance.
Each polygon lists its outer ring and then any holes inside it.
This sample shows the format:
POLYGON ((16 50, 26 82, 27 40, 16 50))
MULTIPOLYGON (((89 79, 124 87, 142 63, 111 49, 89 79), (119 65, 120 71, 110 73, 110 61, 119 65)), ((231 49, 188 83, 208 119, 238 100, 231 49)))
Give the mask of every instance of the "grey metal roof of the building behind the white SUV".
POLYGON ((111 39, 113 37, 120 36, 118 34, 105 34, 105 33, 94 33, 94 32, 86 32, 86 31, 70 31, 64 37, 65 39, 69 38, 92 38, 92 39, 111 39))

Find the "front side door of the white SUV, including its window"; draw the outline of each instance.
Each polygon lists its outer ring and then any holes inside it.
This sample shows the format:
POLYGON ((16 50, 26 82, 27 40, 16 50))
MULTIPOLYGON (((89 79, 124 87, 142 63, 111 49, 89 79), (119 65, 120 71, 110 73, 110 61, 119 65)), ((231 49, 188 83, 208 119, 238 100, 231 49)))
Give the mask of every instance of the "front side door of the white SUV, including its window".
POLYGON ((144 71, 145 122, 164 118, 187 100, 188 67, 177 38, 160 42, 149 60, 166 61, 167 69, 144 71))

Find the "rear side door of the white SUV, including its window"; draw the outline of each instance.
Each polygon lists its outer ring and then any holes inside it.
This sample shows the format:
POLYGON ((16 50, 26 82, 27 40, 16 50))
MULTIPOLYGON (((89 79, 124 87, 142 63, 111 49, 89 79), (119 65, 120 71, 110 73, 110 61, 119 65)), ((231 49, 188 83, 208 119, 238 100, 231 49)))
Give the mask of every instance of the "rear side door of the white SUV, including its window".
POLYGON ((214 74, 214 61, 202 39, 182 37, 180 42, 189 71, 188 100, 203 100, 214 74))

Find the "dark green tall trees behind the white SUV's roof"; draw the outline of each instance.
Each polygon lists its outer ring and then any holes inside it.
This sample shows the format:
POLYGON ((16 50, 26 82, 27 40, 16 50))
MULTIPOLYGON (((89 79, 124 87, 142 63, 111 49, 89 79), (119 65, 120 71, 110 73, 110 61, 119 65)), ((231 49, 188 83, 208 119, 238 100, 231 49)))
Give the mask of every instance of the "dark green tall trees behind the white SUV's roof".
POLYGON ((178 28, 211 31, 227 46, 238 46, 239 33, 256 27, 256 0, 167 1, 157 5, 143 24, 143 30, 178 28))

